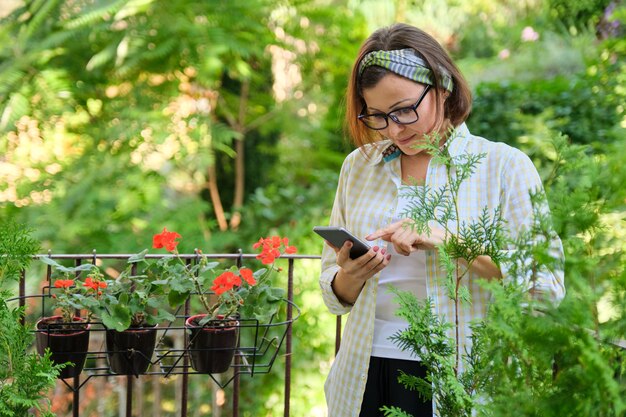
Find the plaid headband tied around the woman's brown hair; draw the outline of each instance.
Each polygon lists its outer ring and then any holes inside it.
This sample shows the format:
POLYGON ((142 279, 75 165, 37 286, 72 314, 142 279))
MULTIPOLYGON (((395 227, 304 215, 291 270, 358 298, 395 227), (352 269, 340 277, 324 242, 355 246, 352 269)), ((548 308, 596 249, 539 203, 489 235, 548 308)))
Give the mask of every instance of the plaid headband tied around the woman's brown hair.
MULTIPOLYGON (((435 86, 435 77, 426 62, 413 49, 398 49, 395 51, 372 51, 366 54, 359 64, 359 77, 366 68, 376 65, 385 68, 395 74, 408 78, 421 84, 435 86)), ((452 77, 441 68, 441 84, 443 88, 452 92, 454 83, 452 77)))

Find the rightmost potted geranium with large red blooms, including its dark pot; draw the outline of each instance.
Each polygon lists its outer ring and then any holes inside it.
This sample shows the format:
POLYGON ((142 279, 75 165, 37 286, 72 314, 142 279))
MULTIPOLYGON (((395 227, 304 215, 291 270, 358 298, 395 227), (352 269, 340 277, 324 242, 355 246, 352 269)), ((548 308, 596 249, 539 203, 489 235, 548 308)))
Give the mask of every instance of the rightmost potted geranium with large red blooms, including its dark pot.
POLYGON ((287 238, 261 238, 253 245, 261 248, 257 256, 268 268, 252 271, 231 267, 218 270, 218 262, 208 262, 198 254, 195 265, 187 265, 176 249, 181 236, 176 232, 155 235, 154 247, 165 248, 173 254, 164 258, 162 267, 170 274, 163 276, 178 295, 186 299, 198 296, 203 312, 188 317, 185 327, 190 335, 188 354, 191 366, 200 373, 223 373, 230 367, 239 336, 239 321, 255 319, 266 322, 278 311, 284 290, 271 285, 271 275, 278 271, 275 260, 283 253, 295 253, 287 238), (183 273, 181 273, 183 272, 183 273), (182 278, 182 281, 181 281, 182 278))

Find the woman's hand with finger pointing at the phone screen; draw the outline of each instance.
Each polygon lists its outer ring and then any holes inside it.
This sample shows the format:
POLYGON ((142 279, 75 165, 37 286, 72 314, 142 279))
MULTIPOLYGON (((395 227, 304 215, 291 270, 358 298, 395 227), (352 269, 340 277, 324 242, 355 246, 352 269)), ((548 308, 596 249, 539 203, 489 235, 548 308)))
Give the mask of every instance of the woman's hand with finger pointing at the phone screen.
POLYGON ((400 255, 408 256, 417 250, 434 250, 437 245, 443 243, 444 231, 440 228, 431 228, 430 236, 420 235, 411 227, 412 220, 404 219, 392 223, 389 226, 376 230, 366 240, 383 239, 393 244, 394 249, 400 255))

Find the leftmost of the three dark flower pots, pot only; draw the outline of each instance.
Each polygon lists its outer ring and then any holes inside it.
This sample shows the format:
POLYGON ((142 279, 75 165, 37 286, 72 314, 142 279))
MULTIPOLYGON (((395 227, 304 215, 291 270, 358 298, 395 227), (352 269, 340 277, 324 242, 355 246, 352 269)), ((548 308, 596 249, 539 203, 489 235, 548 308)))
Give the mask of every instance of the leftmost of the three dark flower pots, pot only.
POLYGON ((44 355, 50 349, 50 358, 56 364, 71 362, 61 370, 59 378, 74 378, 83 371, 89 350, 91 325, 80 317, 74 317, 72 325, 63 323, 61 316, 44 317, 36 324, 35 343, 37 352, 44 355))

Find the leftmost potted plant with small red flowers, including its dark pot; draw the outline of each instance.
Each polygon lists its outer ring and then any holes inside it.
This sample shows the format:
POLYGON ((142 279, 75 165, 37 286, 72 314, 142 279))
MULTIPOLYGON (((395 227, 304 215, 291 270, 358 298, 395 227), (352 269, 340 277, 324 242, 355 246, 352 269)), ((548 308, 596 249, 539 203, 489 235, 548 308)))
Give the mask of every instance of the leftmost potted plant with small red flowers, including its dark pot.
POLYGON ((65 267, 47 257, 42 261, 55 267, 61 276, 54 280, 50 294, 58 314, 42 317, 35 325, 37 352, 44 356, 46 350, 50 350, 54 363, 70 362, 60 372, 59 378, 74 378, 82 372, 85 364, 91 328, 91 312, 88 310, 87 317, 81 317, 77 312, 87 309, 100 298, 107 284, 94 265, 65 267), (81 281, 80 274, 86 271, 89 275, 81 281))

